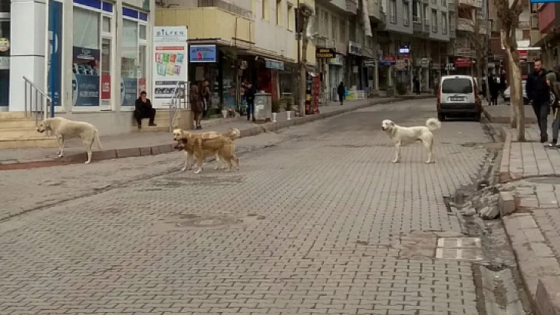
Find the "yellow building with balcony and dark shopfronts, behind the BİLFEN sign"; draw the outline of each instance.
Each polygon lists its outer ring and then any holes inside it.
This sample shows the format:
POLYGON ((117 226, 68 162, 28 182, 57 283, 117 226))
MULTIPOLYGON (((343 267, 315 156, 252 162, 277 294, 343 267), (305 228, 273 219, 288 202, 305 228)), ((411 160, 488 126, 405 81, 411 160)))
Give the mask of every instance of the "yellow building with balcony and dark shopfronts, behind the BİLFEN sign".
MULTIPOLYGON (((196 60, 189 55, 189 81, 208 80, 215 107, 236 107, 246 83, 270 93, 273 100, 293 92, 297 77, 296 2, 161 1, 156 25, 187 26, 189 51, 204 48, 214 56, 196 60)), ((315 7, 313 0, 300 3, 315 7)), ((315 67, 314 43, 307 51, 307 62, 315 67)))

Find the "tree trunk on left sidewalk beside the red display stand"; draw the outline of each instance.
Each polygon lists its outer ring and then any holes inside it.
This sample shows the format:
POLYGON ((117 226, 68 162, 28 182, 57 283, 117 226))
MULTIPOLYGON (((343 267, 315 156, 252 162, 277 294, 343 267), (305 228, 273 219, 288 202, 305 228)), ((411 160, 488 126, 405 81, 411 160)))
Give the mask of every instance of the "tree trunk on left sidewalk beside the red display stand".
MULTIPOLYGON (((297 32, 298 39, 301 39, 301 55, 298 67, 300 72, 300 93, 299 93, 299 112, 300 116, 305 116, 305 91, 307 84, 307 45, 309 44, 309 38, 307 37, 307 26, 313 16, 313 8, 309 4, 302 2, 297 8, 297 32)), ((298 51, 300 54, 300 51, 298 51)))

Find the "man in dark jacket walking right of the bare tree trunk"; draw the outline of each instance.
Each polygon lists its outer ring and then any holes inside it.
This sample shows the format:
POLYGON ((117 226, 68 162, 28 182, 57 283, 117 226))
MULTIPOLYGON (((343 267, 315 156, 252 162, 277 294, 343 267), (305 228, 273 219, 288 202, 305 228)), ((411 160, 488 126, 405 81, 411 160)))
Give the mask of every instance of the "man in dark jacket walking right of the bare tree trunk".
POLYGON ((547 71, 543 69, 540 59, 535 60, 535 70, 529 74, 525 89, 527 98, 533 105, 536 121, 540 129, 540 142, 548 141, 547 116, 550 112, 550 89, 546 79, 547 71))

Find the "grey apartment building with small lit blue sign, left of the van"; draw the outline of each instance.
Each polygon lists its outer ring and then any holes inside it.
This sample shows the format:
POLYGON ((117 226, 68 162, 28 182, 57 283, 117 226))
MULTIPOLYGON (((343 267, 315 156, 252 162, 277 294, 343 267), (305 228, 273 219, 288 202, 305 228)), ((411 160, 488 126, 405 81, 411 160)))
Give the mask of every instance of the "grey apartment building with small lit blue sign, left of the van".
POLYGON ((396 84, 412 91, 412 80, 417 77, 421 90, 429 90, 441 75, 450 41, 447 0, 380 1, 385 17, 377 34, 381 87, 393 86, 395 78, 396 84))

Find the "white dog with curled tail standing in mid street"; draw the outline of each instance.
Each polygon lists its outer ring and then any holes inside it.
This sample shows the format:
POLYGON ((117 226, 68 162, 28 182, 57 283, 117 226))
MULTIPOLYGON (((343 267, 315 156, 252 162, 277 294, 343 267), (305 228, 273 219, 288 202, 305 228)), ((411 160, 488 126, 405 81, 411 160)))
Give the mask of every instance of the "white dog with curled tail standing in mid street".
POLYGON ((391 120, 384 120, 381 123, 381 129, 385 131, 395 142, 395 160, 393 163, 400 162, 400 147, 415 142, 422 142, 424 148, 428 151, 428 159, 426 164, 435 163, 433 159, 433 130, 441 128, 441 123, 435 118, 428 118, 426 126, 403 127, 395 124, 391 120))

